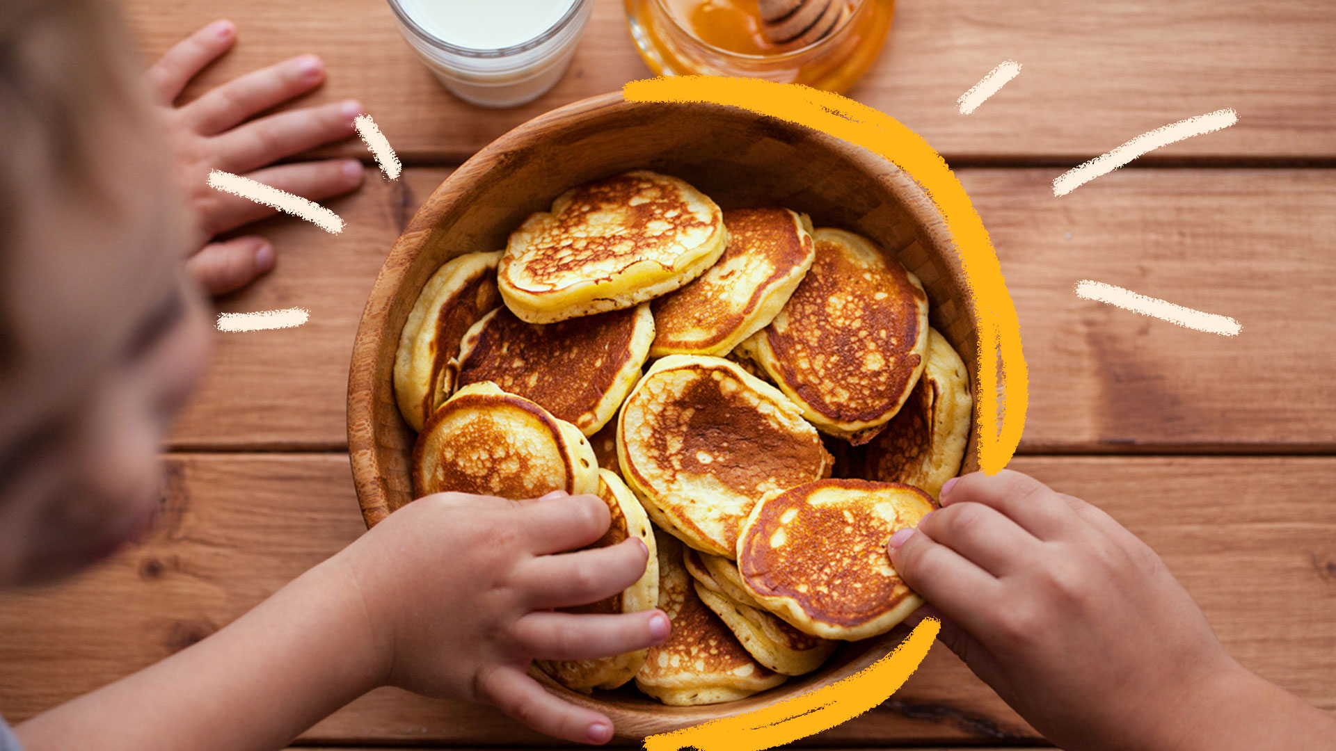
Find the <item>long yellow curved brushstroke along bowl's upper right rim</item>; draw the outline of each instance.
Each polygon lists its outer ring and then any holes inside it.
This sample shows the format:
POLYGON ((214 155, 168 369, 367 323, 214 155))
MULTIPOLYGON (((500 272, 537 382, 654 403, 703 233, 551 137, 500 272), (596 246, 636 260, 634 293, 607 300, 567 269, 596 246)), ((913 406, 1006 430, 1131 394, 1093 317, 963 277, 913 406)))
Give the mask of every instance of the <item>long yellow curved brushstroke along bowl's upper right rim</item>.
POLYGON ((1021 323, 979 214, 946 160, 926 140, 866 104, 798 84, 720 76, 665 76, 631 82, 621 94, 627 102, 708 102, 790 120, 876 152, 918 180, 946 219, 979 317, 975 385, 979 469, 997 474, 1006 466, 1021 442, 1029 401, 1021 323), (1005 374, 1001 390, 999 365, 1005 374), (1005 410, 1001 409, 1003 404, 1005 410))

